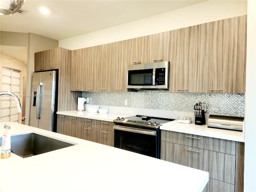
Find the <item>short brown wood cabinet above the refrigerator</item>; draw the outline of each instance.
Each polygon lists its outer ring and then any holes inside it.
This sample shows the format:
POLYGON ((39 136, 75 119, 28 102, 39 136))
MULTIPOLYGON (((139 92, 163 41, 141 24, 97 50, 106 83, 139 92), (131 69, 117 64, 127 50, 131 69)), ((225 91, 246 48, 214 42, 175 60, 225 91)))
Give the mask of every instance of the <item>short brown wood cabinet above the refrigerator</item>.
POLYGON ((60 48, 53 48, 35 53, 35 71, 58 69, 60 59, 59 50, 60 48))

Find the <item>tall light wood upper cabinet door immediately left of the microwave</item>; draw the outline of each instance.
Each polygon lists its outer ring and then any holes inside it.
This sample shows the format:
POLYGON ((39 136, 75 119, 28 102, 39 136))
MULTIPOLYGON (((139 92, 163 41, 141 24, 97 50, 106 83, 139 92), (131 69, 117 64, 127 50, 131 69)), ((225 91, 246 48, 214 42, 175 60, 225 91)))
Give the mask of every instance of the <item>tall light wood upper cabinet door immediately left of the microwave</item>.
POLYGON ((112 44, 112 70, 110 71, 111 91, 127 91, 126 76, 128 65, 129 40, 119 41, 112 44))

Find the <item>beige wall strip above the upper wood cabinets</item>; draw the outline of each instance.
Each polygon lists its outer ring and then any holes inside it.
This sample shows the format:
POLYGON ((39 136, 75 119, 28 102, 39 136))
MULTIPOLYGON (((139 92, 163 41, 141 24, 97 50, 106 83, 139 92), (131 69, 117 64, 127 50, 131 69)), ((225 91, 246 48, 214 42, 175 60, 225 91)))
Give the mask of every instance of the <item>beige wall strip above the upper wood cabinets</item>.
POLYGON ((59 41, 76 50, 247 14, 245 0, 211 0, 119 26, 59 41))

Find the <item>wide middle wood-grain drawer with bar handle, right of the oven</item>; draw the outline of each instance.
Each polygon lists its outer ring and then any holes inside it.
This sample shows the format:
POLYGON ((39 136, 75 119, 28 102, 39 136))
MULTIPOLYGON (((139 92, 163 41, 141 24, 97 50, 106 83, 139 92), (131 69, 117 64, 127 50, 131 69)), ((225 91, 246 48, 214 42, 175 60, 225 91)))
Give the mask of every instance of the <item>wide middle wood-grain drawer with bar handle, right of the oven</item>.
POLYGON ((235 184, 235 155, 162 141, 161 159, 207 171, 212 179, 235 184))

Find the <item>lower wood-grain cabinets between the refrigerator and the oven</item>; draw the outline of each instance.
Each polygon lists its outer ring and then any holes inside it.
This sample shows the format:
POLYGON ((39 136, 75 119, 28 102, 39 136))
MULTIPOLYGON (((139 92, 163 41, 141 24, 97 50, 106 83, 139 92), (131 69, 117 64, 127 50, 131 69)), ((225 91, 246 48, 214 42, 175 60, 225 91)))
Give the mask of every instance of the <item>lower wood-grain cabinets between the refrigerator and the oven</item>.
POLYGON ((114 146, 114 123, 58 115, 57 133, 114 146))

